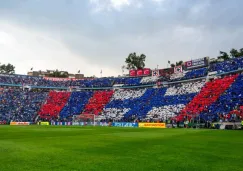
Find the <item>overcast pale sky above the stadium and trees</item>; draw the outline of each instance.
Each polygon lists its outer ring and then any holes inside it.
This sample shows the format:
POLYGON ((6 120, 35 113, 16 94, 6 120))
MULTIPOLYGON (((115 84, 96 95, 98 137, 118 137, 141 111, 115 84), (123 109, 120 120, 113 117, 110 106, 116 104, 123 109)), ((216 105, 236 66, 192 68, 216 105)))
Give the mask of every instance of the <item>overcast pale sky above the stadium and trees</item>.
POLYGON ((131 52, 146 67, 243 47, 243 0, 1 0, 0 62, 16 72, 117 76, 131 52))

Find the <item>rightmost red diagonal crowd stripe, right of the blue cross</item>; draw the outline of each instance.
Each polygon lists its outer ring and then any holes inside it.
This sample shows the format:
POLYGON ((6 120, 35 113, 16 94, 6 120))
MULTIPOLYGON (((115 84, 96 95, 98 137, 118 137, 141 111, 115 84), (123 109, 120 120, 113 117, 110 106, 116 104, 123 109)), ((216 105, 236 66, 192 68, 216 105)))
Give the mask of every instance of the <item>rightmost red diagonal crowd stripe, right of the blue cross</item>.
POLYGON ((237 76, 227 76, 207 82, 201 91, 180 112, 180 116, 192 117, 208 110, 208 107, 217 101, 220 95, 231 86, 237 76))

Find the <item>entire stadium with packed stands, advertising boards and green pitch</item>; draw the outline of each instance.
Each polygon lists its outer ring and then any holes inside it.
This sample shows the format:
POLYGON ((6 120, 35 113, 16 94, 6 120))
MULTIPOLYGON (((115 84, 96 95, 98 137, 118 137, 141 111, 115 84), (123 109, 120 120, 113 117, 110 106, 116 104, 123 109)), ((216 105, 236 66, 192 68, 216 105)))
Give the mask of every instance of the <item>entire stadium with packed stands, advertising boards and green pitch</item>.
POLYGON ((209 60, 128 77, 2 74, 1 168, 241 170, 243 57, 209 60))

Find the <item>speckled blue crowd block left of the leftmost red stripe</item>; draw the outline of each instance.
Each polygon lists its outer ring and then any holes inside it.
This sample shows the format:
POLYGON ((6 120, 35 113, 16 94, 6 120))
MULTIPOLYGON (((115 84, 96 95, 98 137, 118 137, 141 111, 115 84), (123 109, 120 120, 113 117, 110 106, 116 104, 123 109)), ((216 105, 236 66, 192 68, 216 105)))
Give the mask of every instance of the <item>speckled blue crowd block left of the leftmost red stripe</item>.
POLYGON ((0 121, 35 121, 47 94, 44 91, 1 88, 0 121))

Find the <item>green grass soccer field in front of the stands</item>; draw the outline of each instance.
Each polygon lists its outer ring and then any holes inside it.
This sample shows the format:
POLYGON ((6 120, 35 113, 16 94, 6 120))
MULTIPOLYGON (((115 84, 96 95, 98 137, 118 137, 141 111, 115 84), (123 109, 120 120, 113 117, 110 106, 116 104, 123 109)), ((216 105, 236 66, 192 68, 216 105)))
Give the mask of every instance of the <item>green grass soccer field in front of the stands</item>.
POLYGON ((243 170, 243 131, 0 126, 0 170, 243 170))

